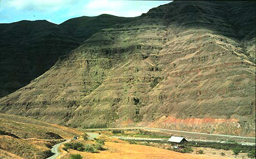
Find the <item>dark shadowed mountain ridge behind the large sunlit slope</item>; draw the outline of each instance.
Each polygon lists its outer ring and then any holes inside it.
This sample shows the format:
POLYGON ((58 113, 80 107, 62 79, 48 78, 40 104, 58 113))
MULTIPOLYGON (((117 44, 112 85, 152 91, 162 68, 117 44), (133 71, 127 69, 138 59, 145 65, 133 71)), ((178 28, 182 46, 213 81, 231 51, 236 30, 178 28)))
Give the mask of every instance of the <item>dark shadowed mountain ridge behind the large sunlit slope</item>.
POLYGON ((0 97, 26 86, 96 31, 132 19, 102 14, 60 25, 48 21, 0 24, 0 97))

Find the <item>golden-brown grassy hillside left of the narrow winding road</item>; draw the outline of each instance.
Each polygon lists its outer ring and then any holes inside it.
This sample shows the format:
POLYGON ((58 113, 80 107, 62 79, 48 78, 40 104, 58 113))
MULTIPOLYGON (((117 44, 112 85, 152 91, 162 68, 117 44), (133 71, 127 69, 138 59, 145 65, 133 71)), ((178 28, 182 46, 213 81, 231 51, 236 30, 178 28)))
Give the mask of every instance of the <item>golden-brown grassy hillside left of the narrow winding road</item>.
POLYGON ((81 131, 0 113, 0 158, 46 158, 51 146, 81 131))

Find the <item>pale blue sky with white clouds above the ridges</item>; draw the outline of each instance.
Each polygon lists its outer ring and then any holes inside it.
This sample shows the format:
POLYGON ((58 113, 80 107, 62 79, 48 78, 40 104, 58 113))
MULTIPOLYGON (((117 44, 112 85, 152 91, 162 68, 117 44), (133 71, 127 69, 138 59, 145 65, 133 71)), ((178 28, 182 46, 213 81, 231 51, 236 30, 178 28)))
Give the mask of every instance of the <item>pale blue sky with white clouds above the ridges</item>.
POLYGON ((47 20, 60 24, 79 16, 111 14, 134 17, 172 1, 0 0, 0 23, 47 20))

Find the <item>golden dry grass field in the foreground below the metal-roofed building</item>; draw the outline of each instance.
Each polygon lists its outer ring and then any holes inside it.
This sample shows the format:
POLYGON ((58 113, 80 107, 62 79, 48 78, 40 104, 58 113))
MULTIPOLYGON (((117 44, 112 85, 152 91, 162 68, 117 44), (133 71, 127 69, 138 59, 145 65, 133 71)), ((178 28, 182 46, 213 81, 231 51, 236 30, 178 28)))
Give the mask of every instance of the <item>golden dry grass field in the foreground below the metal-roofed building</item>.
POLYGON ((118 139, 107 139, 108 142, 105 143, 107 146, 107 150, 100 151, 100 153, 86 153, 79 152, 77 150, 68 149, 68 152, 62 150, 62 146, 60 146, 60 150, 62 155, 59 158, 68 158, 70 154, 81 154, 83 158, 99 158, 99 159, 112 159, 112 158, 122 158, 122 159, 143 159, 143 158, 180 158, 180 159, 199 159, 204 157, 198 157, 196 155, 191 154, 182 154, 178 152, 173 152, 171 150, 150 147, 144 145, 131 145, 126 141, 118 140, 118 139))

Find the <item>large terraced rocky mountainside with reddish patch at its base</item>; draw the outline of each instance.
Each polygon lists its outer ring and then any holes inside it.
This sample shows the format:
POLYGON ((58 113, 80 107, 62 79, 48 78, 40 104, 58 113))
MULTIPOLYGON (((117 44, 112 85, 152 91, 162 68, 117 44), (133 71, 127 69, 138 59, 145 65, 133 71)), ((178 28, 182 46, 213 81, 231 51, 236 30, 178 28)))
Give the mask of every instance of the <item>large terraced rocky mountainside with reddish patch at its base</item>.
POLYGON ((0 99, 1 112, 73 127, 255 136, 255 10, 174 1, 98 30, 0 99))

